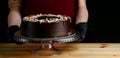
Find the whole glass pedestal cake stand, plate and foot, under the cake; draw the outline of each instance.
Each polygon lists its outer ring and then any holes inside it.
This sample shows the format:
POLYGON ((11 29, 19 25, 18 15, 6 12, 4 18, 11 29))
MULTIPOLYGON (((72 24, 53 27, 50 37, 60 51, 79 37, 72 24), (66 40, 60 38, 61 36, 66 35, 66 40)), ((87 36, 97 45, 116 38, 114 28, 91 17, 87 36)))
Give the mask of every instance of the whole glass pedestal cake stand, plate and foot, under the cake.
MULTIPOLYGON (((58 38, 31 38, 25 37, 20 34, 20 31, 15 33, 15 40, 21 43, 40 43, 40 47, 32 51, 34 55, 38 56, 53 56, 61 54, 60 50, 54 48, 54 43, 66 43, 73 42, 79 39, 79 34, 74 33, 72 35, 66 37, 58 37, 58 38)), ((81 40, 80 40, 81 41, 81 40)))

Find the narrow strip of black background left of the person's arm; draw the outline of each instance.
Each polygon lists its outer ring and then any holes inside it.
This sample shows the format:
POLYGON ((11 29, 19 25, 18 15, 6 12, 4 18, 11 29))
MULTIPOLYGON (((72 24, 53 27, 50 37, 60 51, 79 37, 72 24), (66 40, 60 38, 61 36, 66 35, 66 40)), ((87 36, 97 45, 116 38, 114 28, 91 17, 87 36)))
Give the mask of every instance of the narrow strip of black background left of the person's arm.
POLYGON ((9 42, 7 37, 8 1, 0 0, 0 42, 9 42))

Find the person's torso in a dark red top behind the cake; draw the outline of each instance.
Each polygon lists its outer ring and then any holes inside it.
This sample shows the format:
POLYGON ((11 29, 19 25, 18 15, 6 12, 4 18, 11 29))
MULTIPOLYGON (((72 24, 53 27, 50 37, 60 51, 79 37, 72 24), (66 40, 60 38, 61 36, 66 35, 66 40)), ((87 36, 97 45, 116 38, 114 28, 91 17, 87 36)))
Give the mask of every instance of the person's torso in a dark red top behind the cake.
POLYGON ((71 18, 75 15, 75 0, 25 0, 25 15, 60 14, 71 18))

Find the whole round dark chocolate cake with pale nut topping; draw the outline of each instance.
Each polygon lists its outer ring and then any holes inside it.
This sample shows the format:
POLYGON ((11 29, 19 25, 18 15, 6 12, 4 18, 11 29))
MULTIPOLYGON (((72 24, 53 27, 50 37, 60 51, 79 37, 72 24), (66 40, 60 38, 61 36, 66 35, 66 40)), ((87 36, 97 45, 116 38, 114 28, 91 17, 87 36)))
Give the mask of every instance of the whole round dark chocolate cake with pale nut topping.
POLYGON ((69 16, 37 14, 23 18, 21 34, 32 38, 56 38, 73 34, 69 16))

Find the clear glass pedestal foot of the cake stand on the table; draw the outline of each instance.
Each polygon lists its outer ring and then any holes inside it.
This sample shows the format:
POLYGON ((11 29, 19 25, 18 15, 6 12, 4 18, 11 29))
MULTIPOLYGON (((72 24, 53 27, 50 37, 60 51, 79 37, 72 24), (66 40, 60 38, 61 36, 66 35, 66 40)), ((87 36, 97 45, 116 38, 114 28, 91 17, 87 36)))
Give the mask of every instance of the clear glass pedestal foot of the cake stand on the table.
POLYGON ((51 43, 41 44, 38 49, 32 51, 32 54, 37 56, 55 56, 61 53, 62 52, 55 49, 51 43))

